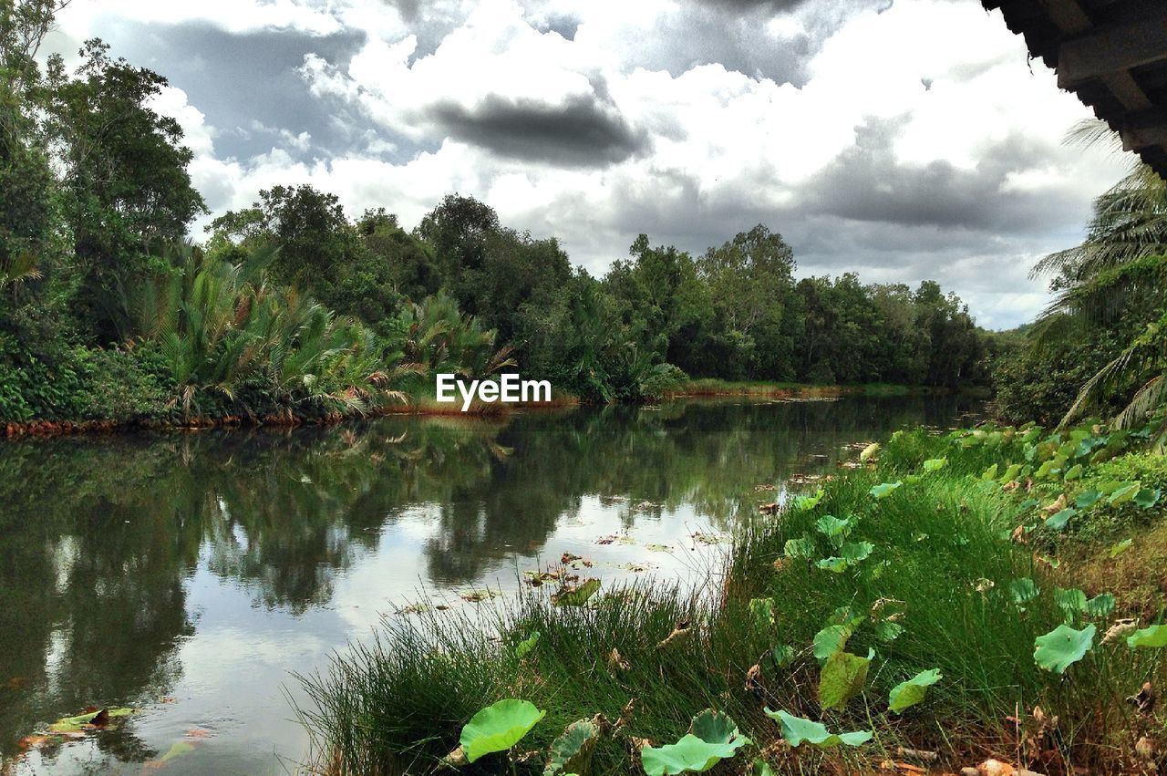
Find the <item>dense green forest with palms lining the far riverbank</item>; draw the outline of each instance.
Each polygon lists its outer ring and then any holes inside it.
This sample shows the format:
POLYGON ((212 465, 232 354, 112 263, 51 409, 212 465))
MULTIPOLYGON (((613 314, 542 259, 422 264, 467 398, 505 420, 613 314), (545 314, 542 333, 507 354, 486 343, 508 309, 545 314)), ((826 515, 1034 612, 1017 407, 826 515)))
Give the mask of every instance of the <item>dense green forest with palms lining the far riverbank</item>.
POLYGON ((89 41, 37 51, 54 0, 0 4, 0 421, 365 412, 435 369, 518 369, 585 401, 685 376, 960 386, 986 335, 937 284, 795 277, 766 226, 703 256, 641 235, 602 278, 452 194, 412 231, 310 186, 215 218, 167 82, 89 41))

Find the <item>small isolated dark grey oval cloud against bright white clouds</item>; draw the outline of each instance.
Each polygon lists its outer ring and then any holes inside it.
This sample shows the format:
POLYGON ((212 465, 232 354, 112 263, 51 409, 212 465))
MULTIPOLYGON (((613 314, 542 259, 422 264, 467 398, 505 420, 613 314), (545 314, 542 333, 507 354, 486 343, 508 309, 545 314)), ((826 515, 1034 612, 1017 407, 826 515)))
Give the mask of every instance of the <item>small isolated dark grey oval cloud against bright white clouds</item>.
POLYGON ((438 103, 429 114, 459 140, 504 156, 560 165, 616 162, 645 149, 649 142, 644 132, 633 128, 596 96, 548 105, 491 95, 473 109, 438 103))

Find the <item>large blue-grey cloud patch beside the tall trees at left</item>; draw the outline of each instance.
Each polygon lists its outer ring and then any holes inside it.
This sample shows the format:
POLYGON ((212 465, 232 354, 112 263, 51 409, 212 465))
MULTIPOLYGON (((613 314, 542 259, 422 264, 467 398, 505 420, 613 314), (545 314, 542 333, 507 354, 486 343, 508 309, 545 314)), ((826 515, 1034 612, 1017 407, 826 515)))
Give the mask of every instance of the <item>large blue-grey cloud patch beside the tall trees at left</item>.
POLYGON ((210 22, 111 19, 97 33, 117 55, 158 70, 187 92, 190 104, 218 131, 215 149, 219 158, 247 158, 284 147, 281 130, 293 135, 308 132, 313 145, 303 153, 328 156, 348 149, 370 127, 347 106, 313 97, 298 72, 309 53, 347 63, 364 43, 359 30, 229 33, 210 22))

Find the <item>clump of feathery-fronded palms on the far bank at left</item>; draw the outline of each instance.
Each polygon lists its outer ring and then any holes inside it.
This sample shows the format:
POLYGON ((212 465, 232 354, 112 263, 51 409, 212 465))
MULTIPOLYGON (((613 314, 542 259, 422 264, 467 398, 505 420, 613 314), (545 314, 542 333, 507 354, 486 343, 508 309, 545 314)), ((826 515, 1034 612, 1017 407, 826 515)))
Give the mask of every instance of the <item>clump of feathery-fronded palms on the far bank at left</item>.
MULTIPOLYGON (((127 338, 156 343, 190 418, 203 394, 237 403, 258 387, 285 412, 366 412, 404 401, 391 385, 414 368, 359 322, 268 282, 273 247, 226 261, 191 245, 169 250, 172 272, 123 291, 127 338)), ((239 407, 251 412, 246 406, 239 407)))

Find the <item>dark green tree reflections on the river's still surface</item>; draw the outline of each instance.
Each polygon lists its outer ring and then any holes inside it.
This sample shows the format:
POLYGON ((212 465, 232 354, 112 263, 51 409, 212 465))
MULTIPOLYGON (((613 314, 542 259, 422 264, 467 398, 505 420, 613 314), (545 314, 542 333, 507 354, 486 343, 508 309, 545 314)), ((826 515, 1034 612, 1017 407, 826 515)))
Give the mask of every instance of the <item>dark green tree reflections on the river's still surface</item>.
MULTIPOLYGON (((338 579, 385 541, 419 558, 428 585, 478 583, 547 551, 588 504, 609 505, 623 529, 680 509, 728 529, 756 510, 754 484, 827 468, 846 442, 951 425, 969 408, 923 397, 701 401, 6 441, 0 753, 89 704, 156 706, 189 670, 181 645, 200 638, 196 574, 285 623, 334 606, 338 579)), ((406 593, 417 581, 384 585, 406 593)), ((352 635, 321 638, 330 648, 352 635)), ((97 736, 86 756, 156 757, 162 744, 134 737, 135 725, 97 736)))

